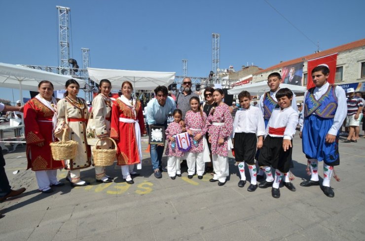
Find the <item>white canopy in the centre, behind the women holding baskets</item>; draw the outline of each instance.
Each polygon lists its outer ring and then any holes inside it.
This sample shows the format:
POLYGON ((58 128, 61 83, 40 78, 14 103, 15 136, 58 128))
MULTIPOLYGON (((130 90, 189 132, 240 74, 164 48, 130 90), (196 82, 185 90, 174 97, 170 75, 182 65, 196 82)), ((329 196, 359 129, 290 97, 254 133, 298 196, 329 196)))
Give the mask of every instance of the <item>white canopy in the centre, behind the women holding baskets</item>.
POLYGON ((124 81, 129 81, 134 90, 153 90, 157 86, 169 86, 175 80, 175 72, 135 71, 121 69, 87 68, 89 77, 99 84, 102 79, 111 82, 113 90, 120 90, 124 81))

